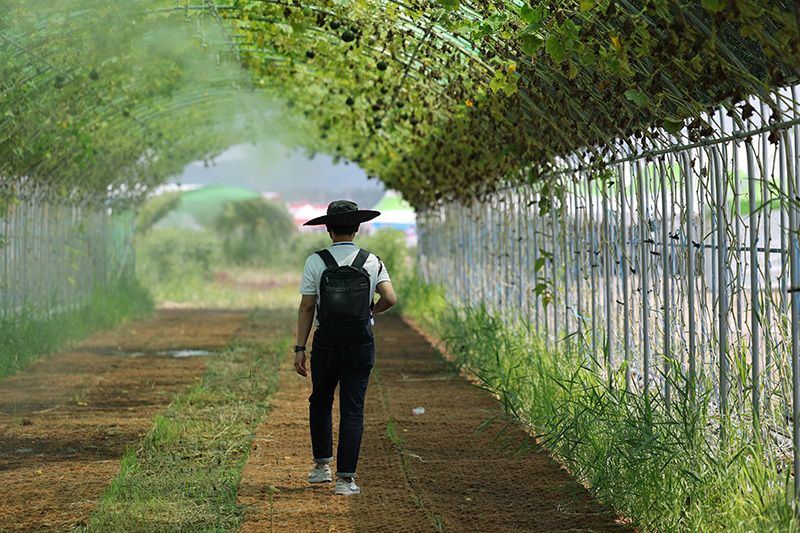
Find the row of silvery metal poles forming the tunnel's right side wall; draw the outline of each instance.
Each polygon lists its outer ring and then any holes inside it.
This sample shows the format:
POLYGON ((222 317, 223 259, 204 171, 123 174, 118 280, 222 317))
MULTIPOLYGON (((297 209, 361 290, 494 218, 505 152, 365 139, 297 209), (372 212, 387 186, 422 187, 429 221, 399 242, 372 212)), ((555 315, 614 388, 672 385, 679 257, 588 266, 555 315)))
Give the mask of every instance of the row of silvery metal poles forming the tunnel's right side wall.
POLYGON ((710 432, 757 433, 791 462, 798 101, 792 89, 752 105, 749 119, 707 116, 714 131, 693 144, 629 143, 604 171, 576 157, 542 182, 426 212, 423 278, 551 346, 579 343, 612 387, 667 409, 709 392, 710 432))

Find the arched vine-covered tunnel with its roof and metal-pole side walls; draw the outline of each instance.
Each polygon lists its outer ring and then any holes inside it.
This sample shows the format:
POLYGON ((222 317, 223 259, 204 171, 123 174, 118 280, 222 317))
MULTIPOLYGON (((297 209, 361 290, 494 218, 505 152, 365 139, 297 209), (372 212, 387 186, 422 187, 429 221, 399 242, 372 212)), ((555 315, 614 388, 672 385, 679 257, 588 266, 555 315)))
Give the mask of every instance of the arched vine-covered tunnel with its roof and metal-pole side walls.
MULTIPOLYGON (((745 168, 751 177, 760 173, 762 187, 758 194, 751 190, 748 202, 757 197, 771 205, 765 200, 769 190, 783 211, 792 209, 797 186, 792 177, 800 168, 798 150, 792 152, 800 147, 796 5, 782 0, 0 0, 0 221, 19 228, 35 225, 36 217, 58 218, 77 227, 81 220, 120 213, 102 224, 132 238, 124 229, 131 224, 130 210, 186 164, 213 158, 233 144, 279 139, 357 163, 399 191, 427 221, 421 268, 433 281, 451 282, 461 303, 497 303, 513 312, 527 306, 529 313, 536 311, 537 328, 543 311, 544 324, 551 321, 556 332, 591 338, 587 351, 595 361, 602 359, 598 330, 607 328, 603 357, 611 367, 608 345, 617 334, 612 330, 622 327, 609 317, 614 314, 621 323, 633 314, 628 307, 622 314, 614 309, 614 298, 626 306, 639 298, 644 309, 639 340, 626 337, 624 351, 627 357, 635 351, 631 345, 640 343, 644 368, 638 372, 647 387, 648 320, 669 308, 673 286, 662 276, 649 287, 608 289, 628 283, 625 268, 634 272, 650 265, 653 276, 673 272, 676 286, 708 270, 713 283, 703 290, 713 293, 714 303, 697 306, 703 316, 691 314, 697 299, 692 283, 685 285, 689 296, 679 298, 691 317, 683 320, 700 329, 707 323, 715 331, 702 337, 708 346, 726 341, 715 329, 715 317, 724 313, 743 331, 742 317, 751 310, 739 303, 745 291, 780 285, 784 295, 797 295, 797 280, 790 279, 784 258, 792 255, 786 254, 788 245, 780 251, 784 266, 775 285, 768 267, 759 274, 753 266, 770 264, 768 230, 758 237, 760 244, 756 232, 741 233, 738 222, 714 233, 721 227, 716 221, 731 214, 744 220, 755 212, 738 201, 728 214, 720 207, 727 205, 727 187, 739 195, 738 181, 699 190, 697 198, 719 200, 710 200, 708 208, 694 206, 691 196, 699 181, 724 180, 745 168), (748 152, 739 166, 737 149, 725 152, 739 141, 759 147, 760 159, 747 159, 753 155, 748 152), (770 146, 774 176, 767 170, 770 146), (660 172, 653 170, 659 165, 660 172), (794 184, 771 189, 778 174, 794 184), (611 176, 620 183, 614 185, 611 176), (664 203, 651 209, 649 198, 664 203), (680 206, 680 213, 668 216, 668 202, 680 206), (618 219, 599 215, 613 210, 609 204, 621 210, 618 219), (43 205, 47 212, 20 214, 43 205), (523 216, 534 209, 535 215, 523 216), (598 213, 596 221, 581 219, 580 210, 598 213), (691 226, 697 213, 699 230, 691 226), (668 231, 655 219, 674 226, 668 231), (612 229, 614 224, 620 229, 612 229), (571 243, 556 235, 557 227, 574 230, 571 243), (753 240, 745 243, 744 235, 753 240), (668 250, 681 239, 686 259, 653 262, 678 257, 668 250), (598 240, 611 247, 601 250, 598 240), (481 250, 468 246, 478 241, 490 244, 481 250), (685 252, 692 245, 709 250, 698 252, 698 261, 711 266, 692 263, 693 254, 685 252), (628 255, 619 251, 625 246, 628 255), (625 268, 613 270, 618 252, 616 264, 625 268), (731 281, 731 257, 745 252, 754 254, 749 263, 735 261, 754 277, 731 281), (481 272, 457 267, 473 263, 481 272), (560 287, 537 279, 547 268, 550 283, 563 276, 560 287), (515 283, 492 277, 515 270, 515 283), (606 287, 597 289, 600 272, 606 287), (570 287, 573 296, 567 294, 570 287), (580 291, 587 288, 591 296, 584 292, 581 300, 580 291), (650 292, 652 308, 646 300, 650 292), (738 299, 720 310, 723 293, 738 299), (559 315, 550 307, 548 316, 542 298, 559 297, 566 302, 563 311, 559 315), (576 305, 570 307, 569 298, 576 305), (605 302, 602 312, 598 298, 605 302)), ((107 241, 103 246, 110 256, 124 255, 124 247, 107 241)), ((0 232, 3 287, 22 292, 33 287, 46 295, 51 287, 31 280, 41 273, 28 269, 9 277, 22 252, 18 243, 14 248, 8 242, 9 235, 0 232)), ((74 249, 82 246, 69 242, 74 249)), ((49 256, 57 248, 49 242, 39 253, 49 256)), ((59 266, 41 264, 45 273, 59 266)), ((81 286, 90 280, 70 282, 81 286)), ((5 298, 5 307, 23 299, 19 293, 5 298)), ((789 307, 794 312, 798 302, 790 306, 789 297, 781 298, 770 302, 772 307, 753 300, 753 331, 768 322, 770 312, 797 323, 789 307)), ((668 339, 675 317, 672 326, 668 318, 658 320, 664 321, 656 326, 664 341, 656 348, 666 359, 670 342, 677 350, 682 341, 668 339)), ((768 335, 769 327, 764 332, 768 335)), ((784 328, 778 336, 772 345, 765 337, 767 366, 769 354, 777 358, 790 346, 797 350, 793 332, 784 328)), ((689 339, 691 345, 694 333, 689 339)), ((713 355, 714 349, 707 351, 713 355)), ((725 374, 727 359, 720 361, 716 378, 724 392, 717 393, 716 406, 724 410, 735 384, 725 374)), ((785 366, 791 371, 796 363, 785 366)), ((627 366, 628 384, 634 368, 627 366)), ((775 373, 777 388, 792 388, 786 375, 775 373)), ((744 385, 741 389, 743 398, 744 385)), ((782 396, 785 410, 775 415, 782 420, 773 421, 782 435, 792 431, 792 416, 800 420, 800 387, 794 389, 791 400, 791 391, 782 396)), ((754 411, 759 401, 753 396, 754 411)), ((796 423, 793 429, 796 450, 796 423)), ((794 461, 797 469, 797 454, 794 461)))

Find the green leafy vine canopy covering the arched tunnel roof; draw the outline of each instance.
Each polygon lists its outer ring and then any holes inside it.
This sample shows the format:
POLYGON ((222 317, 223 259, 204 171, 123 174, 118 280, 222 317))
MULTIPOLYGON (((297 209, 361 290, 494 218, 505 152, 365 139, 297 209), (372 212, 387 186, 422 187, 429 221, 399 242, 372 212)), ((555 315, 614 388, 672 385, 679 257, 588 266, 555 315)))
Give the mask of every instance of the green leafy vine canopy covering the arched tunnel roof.
POLYGON ((138 201, 274 106, 284 142, 425 208, 696 141, 800 68, 779 0, 6 3, 0 176, 62 199, 138 201))

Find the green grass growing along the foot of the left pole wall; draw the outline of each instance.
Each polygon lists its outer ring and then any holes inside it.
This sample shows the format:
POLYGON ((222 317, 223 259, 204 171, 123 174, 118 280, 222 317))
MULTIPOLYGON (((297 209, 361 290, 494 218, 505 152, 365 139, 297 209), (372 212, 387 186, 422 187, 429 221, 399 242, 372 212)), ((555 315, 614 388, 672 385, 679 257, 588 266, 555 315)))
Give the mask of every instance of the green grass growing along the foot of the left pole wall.
POLYGON ((0 379, 95 331, 147 316, 152 309, 150 293, 132 281, 98 288, 86 305, 63 313, 26 309, 18 315, 2 318, 0 379))

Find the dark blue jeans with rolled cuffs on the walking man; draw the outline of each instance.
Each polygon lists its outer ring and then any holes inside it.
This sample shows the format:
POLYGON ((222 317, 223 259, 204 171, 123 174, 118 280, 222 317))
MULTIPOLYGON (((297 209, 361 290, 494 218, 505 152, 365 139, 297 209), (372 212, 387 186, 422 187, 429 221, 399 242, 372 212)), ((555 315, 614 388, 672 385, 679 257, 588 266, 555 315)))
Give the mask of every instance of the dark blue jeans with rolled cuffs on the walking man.
POLYGON ((339 444, 336 448, 336 475, 355 477, 361 437, 364 434, 364 398, 369 373, 375 363, 375 344, 326 346, 319 330, 311 350, 309 425, 314 462, 333 461, 333 397, 339 389, 339 444))

